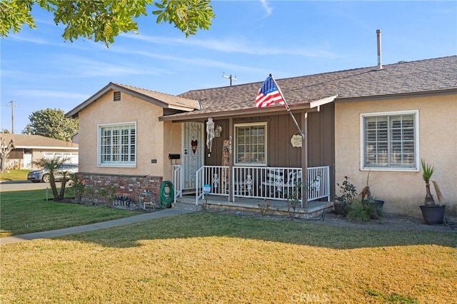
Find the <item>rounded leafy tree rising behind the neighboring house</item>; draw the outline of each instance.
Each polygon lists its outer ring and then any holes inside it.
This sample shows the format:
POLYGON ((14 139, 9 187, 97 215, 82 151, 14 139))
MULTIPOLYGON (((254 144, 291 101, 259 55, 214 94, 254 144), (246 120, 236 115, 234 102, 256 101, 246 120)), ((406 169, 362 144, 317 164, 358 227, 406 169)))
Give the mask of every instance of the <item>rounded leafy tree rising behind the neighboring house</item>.
POLYGON ((56 138, 61 141, 71 141, 71 136, 78 131, 78 121, 65 118, 61 109, 46 108, 31 113, 30 123, 23 133, 56 138))

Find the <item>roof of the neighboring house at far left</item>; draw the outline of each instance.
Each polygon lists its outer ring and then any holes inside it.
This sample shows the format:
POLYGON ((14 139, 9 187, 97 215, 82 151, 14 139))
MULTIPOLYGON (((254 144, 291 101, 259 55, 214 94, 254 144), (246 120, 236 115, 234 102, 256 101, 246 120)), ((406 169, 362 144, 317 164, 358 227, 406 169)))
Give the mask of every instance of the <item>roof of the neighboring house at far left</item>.
POLYGON ((26 134, 9 134, 0 133, 0 136, 5 138, 5 143, 8 144, 11 139, 14 140, 16 148, 54 148, 54 149, 71 149, 78 150, 77 143, 69 143, 67 141, 59 141, 59 139, 49 138, 39 135, 26 134))

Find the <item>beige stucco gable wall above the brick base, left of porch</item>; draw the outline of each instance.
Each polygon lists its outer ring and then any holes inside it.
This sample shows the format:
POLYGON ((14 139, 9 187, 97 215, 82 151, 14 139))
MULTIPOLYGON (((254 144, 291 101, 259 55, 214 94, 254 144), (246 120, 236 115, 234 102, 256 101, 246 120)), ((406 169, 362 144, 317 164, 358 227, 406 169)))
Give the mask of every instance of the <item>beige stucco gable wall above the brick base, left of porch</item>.
POLYGON ((164 176, 163 109, 139 98, 121 93, 113 101, 113 91, 101 96, 79 113, 79 171, 84 173, 164 176), (136 168, 107 167, 97 164, 98 126, 104 123, 136 122, 136 168), (155 160, 156 163, 153 163, 155 160))

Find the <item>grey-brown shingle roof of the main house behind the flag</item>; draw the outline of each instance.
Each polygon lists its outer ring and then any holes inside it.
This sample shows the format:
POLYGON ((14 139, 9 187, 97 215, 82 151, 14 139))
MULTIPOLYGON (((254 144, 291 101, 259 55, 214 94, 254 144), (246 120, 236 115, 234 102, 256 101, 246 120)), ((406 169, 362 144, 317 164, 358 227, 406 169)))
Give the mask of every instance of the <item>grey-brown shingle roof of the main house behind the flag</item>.
MULTIPOLYGON (((276 82, 291 108, 333 95, 338 95, 336 101, 342 101, 351 98, 455 91, 457 90, 457 56, 399 62, 385 65, 383 69, 374 66, 283 78, 277 79, 276 82)), ((203 110, 178 113, 162 119, 190 118, 201 114, 217 116, 221 112, 253 110, 261 83, 260 81, 182 93, 179 96, 201 101, 203 110)))

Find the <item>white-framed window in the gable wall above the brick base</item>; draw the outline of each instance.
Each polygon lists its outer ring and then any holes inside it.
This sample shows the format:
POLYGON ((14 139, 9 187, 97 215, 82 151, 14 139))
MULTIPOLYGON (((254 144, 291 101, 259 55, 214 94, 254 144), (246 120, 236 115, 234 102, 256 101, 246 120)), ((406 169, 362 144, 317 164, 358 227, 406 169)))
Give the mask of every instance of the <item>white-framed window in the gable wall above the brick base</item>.
POLYGON ((136 123, 99 126, 99 166, 136 166, 136 123))

